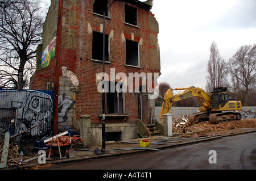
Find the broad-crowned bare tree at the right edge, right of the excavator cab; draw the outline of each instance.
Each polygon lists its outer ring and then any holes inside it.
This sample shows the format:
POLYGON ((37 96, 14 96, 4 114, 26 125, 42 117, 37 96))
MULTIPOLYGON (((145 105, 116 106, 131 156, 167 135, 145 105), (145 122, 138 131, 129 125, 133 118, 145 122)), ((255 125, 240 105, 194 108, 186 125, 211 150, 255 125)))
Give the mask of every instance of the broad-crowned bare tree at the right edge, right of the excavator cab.
POLYGON ((244 106, 248 106, 249 92, 255 92, 256 83, 256 44, 241 46, 229 59, 226 67, 233 79, 240 85, 244 94, 244 106))

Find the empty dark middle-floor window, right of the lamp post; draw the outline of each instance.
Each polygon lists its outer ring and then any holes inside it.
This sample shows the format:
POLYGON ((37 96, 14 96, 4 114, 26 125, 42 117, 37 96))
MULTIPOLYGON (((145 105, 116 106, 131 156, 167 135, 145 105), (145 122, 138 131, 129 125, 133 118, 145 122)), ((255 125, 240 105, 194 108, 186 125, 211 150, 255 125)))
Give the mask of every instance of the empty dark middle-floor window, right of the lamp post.
POLYGON ((139 66, 139 46, 137 41, 126 39, 126 65, 139 66))

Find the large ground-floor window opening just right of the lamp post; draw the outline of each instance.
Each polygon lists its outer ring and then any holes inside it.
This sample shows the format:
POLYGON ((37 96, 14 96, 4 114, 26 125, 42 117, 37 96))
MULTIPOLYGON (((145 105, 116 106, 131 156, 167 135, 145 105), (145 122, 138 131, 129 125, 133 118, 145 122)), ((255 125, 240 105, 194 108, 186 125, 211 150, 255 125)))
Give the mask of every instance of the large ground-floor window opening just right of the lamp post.
POLYGON ((123 83, 106 81, 106 113, 123 113, 123 83))

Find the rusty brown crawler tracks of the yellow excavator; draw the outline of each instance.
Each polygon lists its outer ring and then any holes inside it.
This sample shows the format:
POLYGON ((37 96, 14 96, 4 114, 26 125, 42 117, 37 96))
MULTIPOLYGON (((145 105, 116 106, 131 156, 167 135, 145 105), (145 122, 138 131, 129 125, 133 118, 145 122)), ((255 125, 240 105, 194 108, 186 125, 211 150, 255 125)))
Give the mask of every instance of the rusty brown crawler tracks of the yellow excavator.
POLYGON ((200 121, 210 121, 210 123, 218 124, 223 121, 233 121, 241 120, 241 113, 239 112, 218 112, 218 113, 208 113, 201 112, 195 113, 188 117, 188 120, 191 124, 197 123, 200 121))

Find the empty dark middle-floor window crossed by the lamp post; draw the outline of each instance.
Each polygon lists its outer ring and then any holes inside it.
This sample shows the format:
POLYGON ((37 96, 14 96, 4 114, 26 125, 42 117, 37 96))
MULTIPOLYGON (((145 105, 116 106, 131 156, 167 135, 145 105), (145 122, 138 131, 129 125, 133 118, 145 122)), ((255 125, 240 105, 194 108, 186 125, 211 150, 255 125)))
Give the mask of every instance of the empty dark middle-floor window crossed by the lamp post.
MULTIPOLYGON (((102 60, 103 33, 93 31, 92 59, 102 60)), ((105 34, 105 61, 109 61, 109 35, 105 34)))

